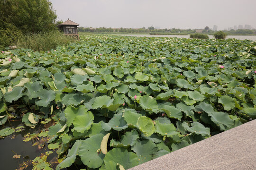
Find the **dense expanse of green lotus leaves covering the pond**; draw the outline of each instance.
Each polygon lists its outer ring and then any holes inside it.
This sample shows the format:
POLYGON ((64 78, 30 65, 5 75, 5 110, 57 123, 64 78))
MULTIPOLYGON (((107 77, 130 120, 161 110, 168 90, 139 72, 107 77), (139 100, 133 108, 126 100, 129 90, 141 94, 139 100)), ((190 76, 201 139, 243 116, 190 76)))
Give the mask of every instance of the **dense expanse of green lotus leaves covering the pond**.
POLYGON ((47 148, 33 170, 52 170, 51 154, 57 170, 124 170, 255 119, 255 81, 249 40, 87 35, 2 51, 0 137, 45 125, 23 134, 47 148))

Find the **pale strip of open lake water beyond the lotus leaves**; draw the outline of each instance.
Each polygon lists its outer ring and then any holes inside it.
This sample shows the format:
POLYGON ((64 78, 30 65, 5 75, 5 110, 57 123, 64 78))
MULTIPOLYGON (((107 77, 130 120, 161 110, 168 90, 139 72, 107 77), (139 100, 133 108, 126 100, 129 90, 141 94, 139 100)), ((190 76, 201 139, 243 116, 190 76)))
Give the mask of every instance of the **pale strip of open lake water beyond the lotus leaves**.
MULTIPOLYGON (((189 38, 190 35, 149 35, 149 34, 117 34, 122 36, 137 36, 137 37, 168 37, 168 38, 189 38)), ((214 38, 213 35, 208 35, 209 38, 214 38)), ((252 40, 256 41, 256 35, 228 35, 228 38, 236 38, 238 40, 252 40)))

